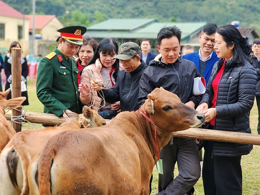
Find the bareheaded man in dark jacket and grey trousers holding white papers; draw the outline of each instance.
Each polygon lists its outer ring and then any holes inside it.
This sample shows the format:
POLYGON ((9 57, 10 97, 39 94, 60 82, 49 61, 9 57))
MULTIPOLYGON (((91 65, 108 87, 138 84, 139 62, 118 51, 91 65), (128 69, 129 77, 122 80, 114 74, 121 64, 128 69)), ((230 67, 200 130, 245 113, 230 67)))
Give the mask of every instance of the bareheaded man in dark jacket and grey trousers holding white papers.
MULTIPOLYGON (((194 78, 200 77, 195 64, 179 57, 181 31, 178 27, 162 28, 157 35, 161 58, 149 63, 140 79, 138 104, 141 106, 156 87, 175 93, 182 103, 195 108, 201 96, 192 95, 194 78)), ((174 109, 174 108, 173 108, 174 109)), ((174 124, 172 124, 174 125, 174 124)), ((200 177, 199 152, 194 139, 172 137, 160 152, 163 174, 159 173, 158 194, 183 195, 200 177), (178 163, 179 175, 173 176, 178 163)))

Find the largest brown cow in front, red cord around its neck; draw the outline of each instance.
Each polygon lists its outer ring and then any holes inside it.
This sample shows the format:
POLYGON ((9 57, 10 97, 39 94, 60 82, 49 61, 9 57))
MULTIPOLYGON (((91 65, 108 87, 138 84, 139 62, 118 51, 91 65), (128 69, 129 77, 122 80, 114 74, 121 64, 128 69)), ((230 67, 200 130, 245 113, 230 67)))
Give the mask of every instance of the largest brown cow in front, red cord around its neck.
POLYGON ((139 111, 119 113, 90 131, 56 134, 40 152, 39 194, 149 194, 156 143, 160 151, 172 132, 199 127, 205 116, 163 88, 147 98, 139 110, 157 126, 157 142, 155 126, 139 111))

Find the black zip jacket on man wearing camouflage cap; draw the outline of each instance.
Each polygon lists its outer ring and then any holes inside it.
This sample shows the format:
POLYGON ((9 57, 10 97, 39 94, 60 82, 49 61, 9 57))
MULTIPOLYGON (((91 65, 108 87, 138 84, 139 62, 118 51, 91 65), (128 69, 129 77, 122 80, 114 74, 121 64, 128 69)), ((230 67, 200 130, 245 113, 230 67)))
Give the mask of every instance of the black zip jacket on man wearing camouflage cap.
POLYGON ((140 61, 141 64, 133 72, 119 71, 115 85, 108 90, 102 90, 108 103, 120 101, 121 111, 136 111, 139 108, 139 81, 147 67, 142 59, 140 61))

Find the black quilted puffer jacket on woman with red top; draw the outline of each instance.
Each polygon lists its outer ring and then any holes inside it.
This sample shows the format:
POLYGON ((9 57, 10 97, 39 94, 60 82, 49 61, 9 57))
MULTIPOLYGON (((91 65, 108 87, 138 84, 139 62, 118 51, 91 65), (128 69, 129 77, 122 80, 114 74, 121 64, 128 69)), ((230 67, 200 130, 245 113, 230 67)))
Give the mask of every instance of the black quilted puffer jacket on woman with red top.
MULTIPOLYGON (((201 103, 207 102, 209 108, 213 99, 212 80, 223 61, 222 58, 213 66, 206 92, 201 100, 201 103)), ((256 71, 248 61, 243 66, 235 64, 233 59, 226 61, 217 89, 215 129, 251 133, 248 112, 254 104, 256 79, 256 71)), ((250 144, 214 142, 213 155, 235 157, 249 154, 252 149, 253 146, 250 144)))

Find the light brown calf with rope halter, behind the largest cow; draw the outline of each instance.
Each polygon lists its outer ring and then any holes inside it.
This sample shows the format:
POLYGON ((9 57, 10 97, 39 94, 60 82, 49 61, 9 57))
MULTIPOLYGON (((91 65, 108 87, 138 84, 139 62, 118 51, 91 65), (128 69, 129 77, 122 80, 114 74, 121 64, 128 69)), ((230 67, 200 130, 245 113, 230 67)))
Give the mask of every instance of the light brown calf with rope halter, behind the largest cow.
POLYGON ((84 127, 105 125, 105 120, 87 106, 83 114, 66 113, 73 117, 60 126, 25 130, 14 135, 0 156, 0 194, 28 194, 27 169, 32 158, 54 134, 84 127))

